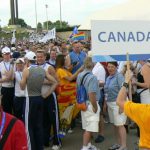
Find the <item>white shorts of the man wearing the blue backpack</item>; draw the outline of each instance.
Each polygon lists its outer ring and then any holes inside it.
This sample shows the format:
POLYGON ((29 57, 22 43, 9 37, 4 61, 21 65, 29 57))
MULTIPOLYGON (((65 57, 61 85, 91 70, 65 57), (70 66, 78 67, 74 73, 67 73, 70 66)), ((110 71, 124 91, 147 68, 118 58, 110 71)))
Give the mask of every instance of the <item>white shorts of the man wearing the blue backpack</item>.
POLYGON ((97 112, 94 113, 92 110, 92 104, 89 103, 86 111, 81 111, 82 118, 82 129, 90 132, 99 131, 99 116, 100 116, 100 107, 97 103, 97 112))

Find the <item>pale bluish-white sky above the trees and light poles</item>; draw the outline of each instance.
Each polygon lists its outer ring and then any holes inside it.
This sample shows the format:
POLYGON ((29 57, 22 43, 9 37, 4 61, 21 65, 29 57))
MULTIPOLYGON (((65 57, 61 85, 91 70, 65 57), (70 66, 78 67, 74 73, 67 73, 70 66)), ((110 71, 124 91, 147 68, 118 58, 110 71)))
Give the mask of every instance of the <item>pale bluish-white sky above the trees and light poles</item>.
MULTIPOLYGON (((60 2, 62 21, 69 25, 80 25, 92 13, 112 7, 126 0, 18 0, 19 18, 32 26, 36 26, 35 2, 37 10, 37 22, 43 23, 47 20, 55 22, 60 20, 60 2)), ((10 18, 10 0, 0 0, 0 25, 6 26, 10 18)))

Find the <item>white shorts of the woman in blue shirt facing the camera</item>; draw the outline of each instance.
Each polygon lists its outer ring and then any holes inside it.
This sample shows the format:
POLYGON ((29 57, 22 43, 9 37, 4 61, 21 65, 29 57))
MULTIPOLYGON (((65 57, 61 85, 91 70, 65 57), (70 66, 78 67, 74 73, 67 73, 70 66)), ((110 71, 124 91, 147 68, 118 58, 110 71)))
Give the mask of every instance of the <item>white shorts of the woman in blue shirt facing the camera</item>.
POLYGON ((116 102, 107 102, 107 106, 110 123, 115 126, 125 125, 127 116, 124 113, 119 113, 119 106, 116 102))

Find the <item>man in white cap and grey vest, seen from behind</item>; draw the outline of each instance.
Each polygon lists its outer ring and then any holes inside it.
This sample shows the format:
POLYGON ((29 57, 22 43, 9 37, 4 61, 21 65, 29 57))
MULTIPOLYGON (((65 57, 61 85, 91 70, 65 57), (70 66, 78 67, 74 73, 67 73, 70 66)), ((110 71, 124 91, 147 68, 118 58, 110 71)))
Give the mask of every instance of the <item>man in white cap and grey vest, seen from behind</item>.
POLYGON ((26 95, 25 126, 28 134, 28 146, 29 150, 43 150, 43 98, 53 92, 57 82, 42 67, 35 64, 34 52, 28 52, 25 58, 28 68, 23 70, 20 87, 22 90, 25 89, 26 95), (51 87, 42 95, 43 83, 51 84, 51 87))

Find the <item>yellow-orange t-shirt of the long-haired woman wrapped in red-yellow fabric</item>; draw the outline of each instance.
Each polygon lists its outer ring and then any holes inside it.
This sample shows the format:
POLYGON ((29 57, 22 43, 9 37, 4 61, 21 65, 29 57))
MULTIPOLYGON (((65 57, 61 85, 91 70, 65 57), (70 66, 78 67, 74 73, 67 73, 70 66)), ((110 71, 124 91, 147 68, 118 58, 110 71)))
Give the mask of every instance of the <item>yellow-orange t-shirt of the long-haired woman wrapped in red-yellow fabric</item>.
POLYGON ((59 68, 56 70, 56 74, 58 76, 59 84, 68 84, 70 81, 66 80, 65 77, 71 77, 72 73, 67 71, 66 69, 59 68))

